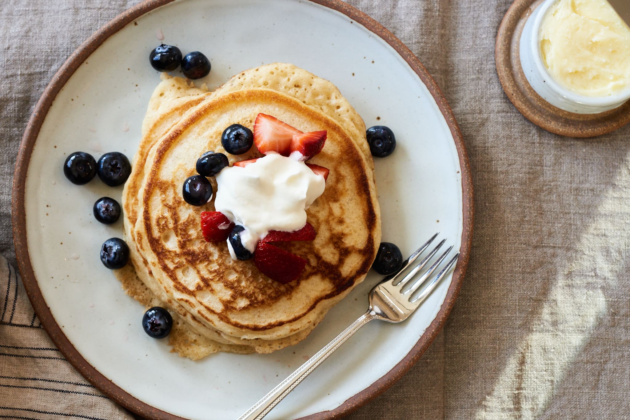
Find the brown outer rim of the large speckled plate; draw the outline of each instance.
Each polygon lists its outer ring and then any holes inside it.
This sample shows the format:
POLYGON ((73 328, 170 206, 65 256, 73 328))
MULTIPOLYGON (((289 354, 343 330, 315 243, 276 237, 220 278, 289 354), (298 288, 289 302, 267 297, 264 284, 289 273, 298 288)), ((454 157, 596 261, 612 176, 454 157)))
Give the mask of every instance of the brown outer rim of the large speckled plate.
MULTIPOLYGON (((91 366, 83 356, 72 346, 72 343, 67 339, 64 332, 61 331, 59 325, 55 321, 50 308, 46 305, 42 292, 37 284, 33 267, 31 266, 30 256, 28 254, 28 243, 26 241, 26 212, 25 212, 25 183, 26 174, 28 172, 28 164, 30 162, 31 152, 35 141, 37 140, 38 133, 42 127, 42 123, 52 105, 57 93, 70 79, 74 71, 86 60, 90 54, 92 54, 96 48, 105 42, 105 40, 122 29, 125 25, 131 23, 135 19, 142 16, 142 14, 148 13, 153 9, 156 9, 164 4, 171 3, 174 0, 145 0, 136 6, 127 9, 123 13, 119 14, 113 20, 106 23, 105 26, 100 28, 83 42, 79 48, 77 48, 72 55, 66 60, 66 62, 60 67, 59 71, 55 73, 48 86, 43 91, 42 96, 37 101, 33 113, 30 116, 26 130, 21 140, 20 149, 18 151, 18 157, 15 164, 15 171, 13 177, 13 196, 11 201, 11 222, 13 224, 13 241, 16 250, 16 258, 18 261, 18 267, 22 276, 22 281, 25 285, 26 294, 40 319, 40 322, 44 329, 52 338, 55 345, 61 353, 66 356, 66 359, 76 368, 83 377, 89 382, 93 383, 95 387, 100 389, 104 394, 108 395, 112 400, 118 404, 130 409, 131 411, 139 414, 140 416, 147 417, 149 419, 156 420, 183 420, 182 417, 169 414, 168 412, 161 411, 155 407, 151 407, 148 404, 136 399, 123 389, 115 385, 111 380, 106 378, 100 372, 91 366)), ((403 59, 410 65, 411 69, 418 74, 421 81, 427 86, 428 90, 435 99, 435 102, 440 108, 442 115, 449 125, 450 132, 452 133, 457 154, 459 156, 459 163, 461 166, 461 178, 462 178, 462 220, 463 231, 461 238, 461 249, 459 261, 455 266, 452 282, 445 297, 444 303, 440 308, 437 316, 427 327, 427 330, 422 334, 418 342, 413 346, 411 351, 401 360, 396 366, 394 366, 389 372, 386 373, 376 382, 372 383, 369 387, 362 390, 358 394, 350 397, 340 406, 331 411, 323 411, 311 416, 302 417, 301 420, 323 420, 323 419, 335 419, 343 417, 350 412, 354 411, 358 407, 364 405, 369 400, 374 399, 377 395, 380 395, 387 388, 389 388, 394 382, 403 376, 411 366, 418 361, 420 356, 427 350, 428 346, 432 343, 435 336, 442 329, 447 317, 450 314, 457 293, 462 286, 464 280, 464 274, 466 273, 466 267, 469 260, 471 242, 473 237, 473 181, 471 177, 470 163, 468 160, 466 147, 464 145, 464 139, 462 137, 459 126, 455 121, 455 116, 447 103, 444 94, 438 88, 437 83, 433 80, 433 77, 428 74, 427 69, 421 64, 418 57, 416 57, 406 45, 403 44, 398 38, 396 38, 390 31, 384 26, 367 16, 367 14, 359 11, 358 9, 350 6, 347 3, 343 3, 341 0, 309 0, 313 3, 321 4, 327 8, 334 9, 340 13, 345 14, 353 21, 365 26, 369 31, 375 33, 375 35, 385 40, 403 59)))

